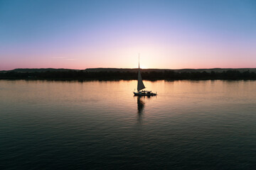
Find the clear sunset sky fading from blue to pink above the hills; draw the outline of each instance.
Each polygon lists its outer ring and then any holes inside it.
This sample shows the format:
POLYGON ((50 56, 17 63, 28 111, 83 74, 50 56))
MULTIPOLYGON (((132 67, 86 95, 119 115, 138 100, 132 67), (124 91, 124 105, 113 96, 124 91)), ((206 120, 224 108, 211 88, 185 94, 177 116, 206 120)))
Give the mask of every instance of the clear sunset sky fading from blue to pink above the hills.
POLYGON ((256 67, 256 1, 0 0, 0 70, 256 67))

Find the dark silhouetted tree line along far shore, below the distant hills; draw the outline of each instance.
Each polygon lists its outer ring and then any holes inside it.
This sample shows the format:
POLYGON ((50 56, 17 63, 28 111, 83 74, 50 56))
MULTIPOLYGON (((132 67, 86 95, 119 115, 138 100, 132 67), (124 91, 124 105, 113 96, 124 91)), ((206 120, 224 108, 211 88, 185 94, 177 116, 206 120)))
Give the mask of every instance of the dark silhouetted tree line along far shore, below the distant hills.
MULTIPOLYGON (((0 79, 52 79, 52 80, 131 80, 137 79, 136 72, 0 72, 0 79)), ((223 72, 142 72, 142 79, 146 80, 181 80, 181 79, 256 79, 256 73, 238 70, 223 72)))

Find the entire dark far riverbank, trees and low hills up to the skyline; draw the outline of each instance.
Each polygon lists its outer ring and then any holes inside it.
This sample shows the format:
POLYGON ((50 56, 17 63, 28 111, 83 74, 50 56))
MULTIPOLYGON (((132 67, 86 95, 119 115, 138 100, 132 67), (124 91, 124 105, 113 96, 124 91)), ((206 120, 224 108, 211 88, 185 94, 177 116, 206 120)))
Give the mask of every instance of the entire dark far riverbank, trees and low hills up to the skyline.
MULTIPOLYGON (((254 69, 143 69, 145 80, 255 80, 254 69)), ((137 69, 98 69, 97 71, 75 69, 14 69, 0 72, 0 79, 46 79, 46 80, 131 80, 137 79, 137 69)))

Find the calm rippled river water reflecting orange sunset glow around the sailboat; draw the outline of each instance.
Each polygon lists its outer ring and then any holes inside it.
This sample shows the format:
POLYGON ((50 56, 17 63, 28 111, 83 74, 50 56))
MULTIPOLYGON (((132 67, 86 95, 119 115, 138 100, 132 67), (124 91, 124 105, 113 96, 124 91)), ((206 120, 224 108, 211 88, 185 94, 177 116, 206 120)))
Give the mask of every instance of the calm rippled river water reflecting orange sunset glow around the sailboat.
POLYGON ((0 81, 0 169, 255 169, 256 81, 0 81))

